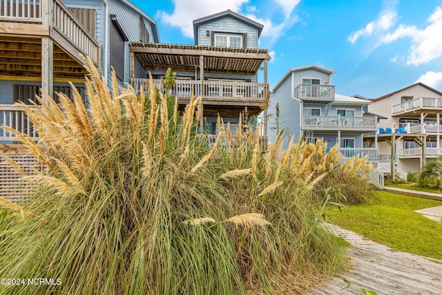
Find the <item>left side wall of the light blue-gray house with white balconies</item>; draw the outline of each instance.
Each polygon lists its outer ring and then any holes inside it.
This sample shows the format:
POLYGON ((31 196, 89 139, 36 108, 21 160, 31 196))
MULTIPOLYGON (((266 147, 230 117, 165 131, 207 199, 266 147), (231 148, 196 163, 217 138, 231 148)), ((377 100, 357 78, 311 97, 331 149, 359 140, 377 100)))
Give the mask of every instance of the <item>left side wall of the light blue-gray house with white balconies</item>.
POLYGON ((269 119, 267 121, 267 135, 269 142, 273 142, 276 138, 277 124, 276 124, 276 104, 279 104, 279 129, 282 130, 284 136, 284 148, 295 137, 297 142, 301 136, 300 130, 300 111, 301 103, 291 97, 291 76, 282 82, 275 92, 270 94, 270 106, 267 111, 269 119))

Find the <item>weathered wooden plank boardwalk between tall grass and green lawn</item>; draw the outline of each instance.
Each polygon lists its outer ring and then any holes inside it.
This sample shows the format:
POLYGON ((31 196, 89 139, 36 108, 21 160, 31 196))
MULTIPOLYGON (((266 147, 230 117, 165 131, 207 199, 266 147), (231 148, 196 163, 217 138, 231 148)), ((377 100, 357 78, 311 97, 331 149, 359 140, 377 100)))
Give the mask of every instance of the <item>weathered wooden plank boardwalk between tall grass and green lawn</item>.
POLYGON ((365 294, 358 286, 370 289, 378 295, 442 294, 441 260, 394 251, 352 231, 334 225, 327 226, 353 246, 348 249, 352 269, 342 274, 353 284, 341 289, 347 283, 334 277, 311 289, 309 295, 365 294))

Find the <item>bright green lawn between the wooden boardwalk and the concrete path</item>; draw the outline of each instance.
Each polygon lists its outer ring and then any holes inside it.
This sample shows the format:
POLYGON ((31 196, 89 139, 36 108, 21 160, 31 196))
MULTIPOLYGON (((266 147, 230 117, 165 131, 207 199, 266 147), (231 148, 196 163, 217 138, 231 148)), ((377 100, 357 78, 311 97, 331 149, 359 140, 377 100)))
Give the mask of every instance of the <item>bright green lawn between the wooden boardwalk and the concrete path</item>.
POLYGON ((326 218, 345 229, 412 254, 442 259, 442 225, 414 210, 442 206, 441 201, 379 192, 380 202, 326 211, 326 218))

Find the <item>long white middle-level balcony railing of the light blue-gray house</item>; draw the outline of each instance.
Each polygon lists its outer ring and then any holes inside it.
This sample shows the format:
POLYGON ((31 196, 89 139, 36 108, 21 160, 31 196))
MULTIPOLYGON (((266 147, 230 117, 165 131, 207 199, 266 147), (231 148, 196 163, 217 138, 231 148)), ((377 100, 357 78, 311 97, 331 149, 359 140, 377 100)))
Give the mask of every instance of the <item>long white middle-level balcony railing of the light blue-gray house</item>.
POLYGON ((318 131, 375 131, 376 117, 302 116, 302 129, 318 131))

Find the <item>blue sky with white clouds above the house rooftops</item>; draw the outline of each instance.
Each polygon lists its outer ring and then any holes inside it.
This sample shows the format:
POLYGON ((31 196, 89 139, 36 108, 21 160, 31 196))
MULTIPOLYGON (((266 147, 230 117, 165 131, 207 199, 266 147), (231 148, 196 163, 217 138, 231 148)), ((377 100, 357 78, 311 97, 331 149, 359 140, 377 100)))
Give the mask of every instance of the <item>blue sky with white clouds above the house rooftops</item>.
POLYGON ((376 98, 416 82, 442 91, 442 0, 133 0, 162 43, 193 44, 192 21, 231 9, 264 24, 273 87, 289 68, 336 71, 336 93, 376 98))

